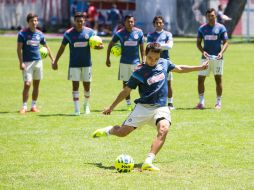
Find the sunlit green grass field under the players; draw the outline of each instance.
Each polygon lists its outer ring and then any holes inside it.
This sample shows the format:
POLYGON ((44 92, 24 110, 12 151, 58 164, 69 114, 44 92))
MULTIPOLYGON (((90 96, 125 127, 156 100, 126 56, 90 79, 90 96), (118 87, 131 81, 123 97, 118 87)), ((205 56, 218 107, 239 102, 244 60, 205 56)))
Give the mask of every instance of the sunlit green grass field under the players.
MULTIPOLYGON (((47 41, 56 55, 61 39, 47 41)), ((117 81, 118 58, 112 57, 111 68, 105 66, 106 48, 92 51, 90 115, 72 116, 68 48, 58 71, 44 60, 40 112, 20 115, 23 81, 16 38, 2 36, 0 44, 0 189, 254 189, 254 44, 230 43, 225 53, 221 111, 214 109, 213 76, 206 80, 207 109, 200 111, 193 109, 197 74, 174 74, 177 109, 154 162, 158 173, 139 172, 155 128, 144 126, 125 138, 91 138, 95 129, 121 124, 129 114, 124 102, 112 115, 101 114, 122 85, 117 81), (114 169, 122 153, 134 158, 133 172, 114 169)), ((200 53, 194 40, 175 39, 171 57, 179 65, 197 65, 200 53)), ((83 100, 81 89, 80 96, 83 100)), ((29 100, 30 106, 31 96, 29 100)))

